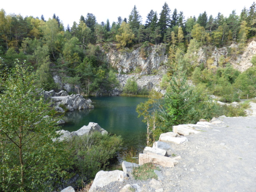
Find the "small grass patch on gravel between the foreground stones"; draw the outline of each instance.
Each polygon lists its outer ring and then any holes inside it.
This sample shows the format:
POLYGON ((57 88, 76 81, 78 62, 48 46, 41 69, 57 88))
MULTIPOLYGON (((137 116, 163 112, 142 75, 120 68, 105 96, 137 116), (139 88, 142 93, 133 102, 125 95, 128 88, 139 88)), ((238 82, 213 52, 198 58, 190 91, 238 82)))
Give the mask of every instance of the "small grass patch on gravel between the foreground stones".
POLYGON ((146 163, 142 166, 135 167, 132 171, 132 175, 136 180, 147 180, 149 178, 158 179, 158 176, 154 170, 160 170, 152 163, 146 163))

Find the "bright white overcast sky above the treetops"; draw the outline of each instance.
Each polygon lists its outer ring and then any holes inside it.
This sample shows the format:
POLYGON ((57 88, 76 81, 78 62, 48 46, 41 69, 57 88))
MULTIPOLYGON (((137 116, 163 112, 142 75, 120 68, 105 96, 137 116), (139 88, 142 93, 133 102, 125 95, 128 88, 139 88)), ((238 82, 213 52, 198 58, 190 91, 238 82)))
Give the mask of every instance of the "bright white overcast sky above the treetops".
POLYGON ((116 22, 118 16, 123 19, 129 17, 130 12, 134 5, 143 19, 143 24, 146 21, 146 16, 150 10, 158 12, 162 10, 164 2, 167 2, 171 9, 171 14, 176 8, 178 12, 183 11, 185 19, 190 16, 196 16, 206 11, 208 17, 212 14, 215 18, 218 12, 229 16, 232 10, 236 10, 236 14, 240 15, 241 10, 246 7, 247 9, 253 3, 253 0, 1 0, 0 8, 6 11, 6 14, 21 14, 25 16, 34 16, 41 18, 44 15, 45 20, 52 18, 55 13, 59 16, 60 20, 66 27, 70 27, 73 22, 79 22, 80 16, 86 17, 87 13, 92 13, 96 16, 97 22, 100 23, 106 20, 116 22))

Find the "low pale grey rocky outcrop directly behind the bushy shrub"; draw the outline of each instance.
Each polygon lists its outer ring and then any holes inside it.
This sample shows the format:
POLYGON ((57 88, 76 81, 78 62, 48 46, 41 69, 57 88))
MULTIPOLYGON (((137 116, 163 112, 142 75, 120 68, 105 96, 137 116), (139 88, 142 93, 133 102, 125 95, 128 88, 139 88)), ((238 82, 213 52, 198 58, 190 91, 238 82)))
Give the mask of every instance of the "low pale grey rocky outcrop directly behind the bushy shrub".
POLYGON ((108 132, 103 128, 101 128, 98 123, 90 122, 88 126, 84 125, 82 126, 82 128, 80 128, 77 131, 73 131, 73 132, 69 132, 65 130, 56 131, 57 134, 60 134, 60 137, 53 139, 53 141, 56 141, 56 140, 63 141, 65 139, 72 138, 73 136, 88 135, 95 131, 100 132, 101 134, 108 134, 108 132))

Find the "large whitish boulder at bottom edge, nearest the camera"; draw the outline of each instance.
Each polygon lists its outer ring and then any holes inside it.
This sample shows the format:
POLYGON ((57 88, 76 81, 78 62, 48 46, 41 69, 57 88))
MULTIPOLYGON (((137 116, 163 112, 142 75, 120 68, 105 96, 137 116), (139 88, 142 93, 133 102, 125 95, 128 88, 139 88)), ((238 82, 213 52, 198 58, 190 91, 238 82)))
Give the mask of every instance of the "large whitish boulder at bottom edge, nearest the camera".
POLYGON ((126 174, 120 170, 99 171, 93 180, 89 192, 93 192, 97 187, 104 187, 114 181, 122 182, 126 177, 126 174))

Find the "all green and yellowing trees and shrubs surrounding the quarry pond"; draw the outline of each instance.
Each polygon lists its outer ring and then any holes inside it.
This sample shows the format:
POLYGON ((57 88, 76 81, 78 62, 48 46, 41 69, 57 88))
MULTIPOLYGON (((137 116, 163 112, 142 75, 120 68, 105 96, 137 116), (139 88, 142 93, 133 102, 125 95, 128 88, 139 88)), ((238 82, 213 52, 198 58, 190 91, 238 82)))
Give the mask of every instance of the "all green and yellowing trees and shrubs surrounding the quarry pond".
MULTIPOLYGON (((87 95, 111 90, 119 82, 117 69, 106 60, 110 49, 124 53, 140 47, 140 54, 146 57, 146 48, 164 45, 168 62, 162 65, 167 73, 160 86, 167 90, 166 109, 152 111, 152 105, 162 98, 156 92, 137 107, 139 116, 151 127, 147 140, 150 145, 174 124, 194 122, 202 116, 210 119, 213 114, 244 114, 243 109, 224 111, 209 102, 208 94, 226 102, 238 101, 245 95, 256 96, 256 56, 251 60, 253 66, 244 72, 230 64, 255 36, 255 2, 240 14, 232 11, 228 17, 203 12, 190 18, 164 3, 160 13, 148 13, 145 24, 135 5, 127 18, 117 16, 112 24, 108 19, 98 23, 94 14, 87 13, 81 15, 79 23, 67 28, 56 14, 45 20, 43 15, 7 15, 1 9, 0 190, 53 191, 74 178, 74 186, 80 189, 81 184, 90 183, 97 171, 108 167, 122 144, 119 136, 100 134, 52 141, 57 137, 54 122, 61 116, 39 93, 41 88, 60 90, 54 75, 79 86, 87 95), (194 54, 200 48, 222 47, 228 47, 228 57, 222 57, 218 66, 210 57, 198 63, 194 54), (188 86, 186 80, 194 86, 188 86)), ((131 88, 124 91, 136 94, 132 81, 131 88)))

